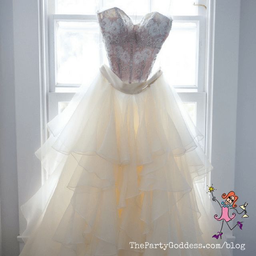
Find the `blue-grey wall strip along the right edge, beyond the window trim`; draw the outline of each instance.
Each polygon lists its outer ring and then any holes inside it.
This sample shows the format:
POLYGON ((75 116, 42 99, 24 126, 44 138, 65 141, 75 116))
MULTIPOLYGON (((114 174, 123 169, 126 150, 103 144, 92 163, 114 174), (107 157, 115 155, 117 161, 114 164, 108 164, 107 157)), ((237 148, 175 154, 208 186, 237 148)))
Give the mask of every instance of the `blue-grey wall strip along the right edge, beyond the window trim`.
MULTIPOLYGON (((236 132, 235 192, 240 203, 248 202, 250 216, 243 230, 236 229, 236 242, 245 243, 243 255, 256 255, 256 1, 242 0, 236 132)), ((240 256, 235 251, 235 256, 240 256)))

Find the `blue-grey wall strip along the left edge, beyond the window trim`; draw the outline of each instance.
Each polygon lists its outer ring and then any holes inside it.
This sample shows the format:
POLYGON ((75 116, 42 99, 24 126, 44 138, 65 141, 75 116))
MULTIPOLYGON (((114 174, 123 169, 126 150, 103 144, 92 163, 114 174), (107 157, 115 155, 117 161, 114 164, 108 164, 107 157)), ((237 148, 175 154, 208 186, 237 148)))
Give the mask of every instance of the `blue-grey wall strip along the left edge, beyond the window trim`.
POLYGON ((0 195, 2 255, 17 256, 18 183, 12 1, 0 1, 0 195))

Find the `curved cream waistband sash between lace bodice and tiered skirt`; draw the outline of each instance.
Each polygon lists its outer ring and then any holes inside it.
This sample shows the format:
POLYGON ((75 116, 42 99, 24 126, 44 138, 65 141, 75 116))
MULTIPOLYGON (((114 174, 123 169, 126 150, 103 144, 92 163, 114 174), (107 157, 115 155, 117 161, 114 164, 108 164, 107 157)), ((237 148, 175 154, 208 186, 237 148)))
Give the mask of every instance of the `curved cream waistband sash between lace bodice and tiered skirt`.
POLYGON ((145 88, 150 87, 163 73, 159 69, 150 79, 144 82, 126 84, 105 64, 100 67, 100 72, 116 90, 126 94, 138 94, 142 92, 145 88))

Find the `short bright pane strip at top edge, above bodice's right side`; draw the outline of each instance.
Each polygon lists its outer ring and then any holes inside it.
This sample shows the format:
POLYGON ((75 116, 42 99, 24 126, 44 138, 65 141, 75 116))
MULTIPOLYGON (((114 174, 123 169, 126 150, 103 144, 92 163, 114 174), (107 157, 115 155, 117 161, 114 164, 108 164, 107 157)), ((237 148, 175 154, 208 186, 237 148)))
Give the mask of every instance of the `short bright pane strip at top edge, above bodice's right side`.
POLYGON ((152 0, 152 11, 172 16, 198 15, 198 7, 194 6, 197 2, 196 0, 152 0))

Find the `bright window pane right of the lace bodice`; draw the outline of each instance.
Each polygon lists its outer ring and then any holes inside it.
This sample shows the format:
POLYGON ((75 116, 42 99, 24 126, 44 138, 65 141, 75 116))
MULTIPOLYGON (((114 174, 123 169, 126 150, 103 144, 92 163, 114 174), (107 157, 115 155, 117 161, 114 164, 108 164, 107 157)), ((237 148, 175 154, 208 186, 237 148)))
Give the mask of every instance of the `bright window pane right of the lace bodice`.
POLYGON ((196 23, 173 22, 159 60, 170 84, 196 85, 196 23))

